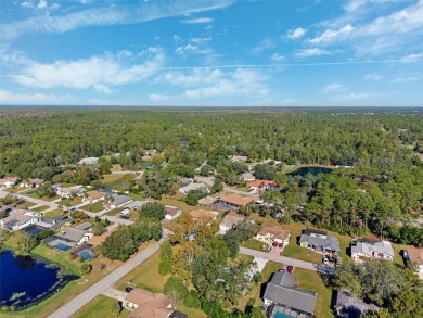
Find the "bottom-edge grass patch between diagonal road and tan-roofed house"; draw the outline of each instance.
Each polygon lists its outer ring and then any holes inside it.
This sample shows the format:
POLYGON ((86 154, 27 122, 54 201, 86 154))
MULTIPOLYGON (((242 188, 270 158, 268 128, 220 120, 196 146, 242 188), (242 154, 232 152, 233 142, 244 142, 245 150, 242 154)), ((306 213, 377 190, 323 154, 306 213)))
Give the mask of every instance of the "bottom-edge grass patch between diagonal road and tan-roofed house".
POLYGON ((89 302, 87 305, 85 305, 82 308, 80 308, 78 311, 76 311, 70 317, 73 318, 97 318, 99 317, 99 314, 101 313, 102 317, 128 317, 131 311, 127 309, 123 309, 117 316, 113 311, 113 305, 116 304, 116 300, 98 295, 95 298, 93 298, 91 302, 89 302))

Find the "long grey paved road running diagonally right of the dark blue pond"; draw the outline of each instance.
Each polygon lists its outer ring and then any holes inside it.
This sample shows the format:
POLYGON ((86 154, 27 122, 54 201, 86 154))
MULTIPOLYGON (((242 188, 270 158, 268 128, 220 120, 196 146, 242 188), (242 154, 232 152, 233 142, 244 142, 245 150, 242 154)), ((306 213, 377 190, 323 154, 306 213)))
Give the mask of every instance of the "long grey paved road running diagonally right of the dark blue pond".
POLYGON ((141 253, 137 254, 134 257, 127 260, 123 266, 116 268, 110 275, 104 277, 102 280, 98 281, 95 284, 87 289, 85 292, 80 293, 74 300, 59 308, 56 311, 51 314, 49 318, 65 318, 70 317, 77 310, 79 310, 82 306, 87 305, 90 301, 92 301, 99 294, 102 294, 107 291, 107 289, 113 285, 116 281, 127 275, 129 271, 134 269, 141 263, 143 263, 146 258, 152 256, 155 252, 158 251, 161 244, 164 242, 166 238, 163 238, 158 242, 153 245, 146 247, 141 253))

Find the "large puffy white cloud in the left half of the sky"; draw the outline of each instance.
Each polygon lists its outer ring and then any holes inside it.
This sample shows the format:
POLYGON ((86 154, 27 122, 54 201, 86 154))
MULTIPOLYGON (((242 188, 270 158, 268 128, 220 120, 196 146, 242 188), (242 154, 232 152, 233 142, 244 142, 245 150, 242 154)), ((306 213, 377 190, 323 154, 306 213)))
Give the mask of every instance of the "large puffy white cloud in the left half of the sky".
POLYGON ((136 82, 153 76, 157 68, 163 67, 164 59, 161 49, 151 48, 133 59, 118 53, 77 61, 56 61, 52 64, 33 62, 23 69, 23 75, 13 78, 27 87, 94 88, 110 93, 108 86, 136 82), (139 61, 141 59, 142 62, 139 61))

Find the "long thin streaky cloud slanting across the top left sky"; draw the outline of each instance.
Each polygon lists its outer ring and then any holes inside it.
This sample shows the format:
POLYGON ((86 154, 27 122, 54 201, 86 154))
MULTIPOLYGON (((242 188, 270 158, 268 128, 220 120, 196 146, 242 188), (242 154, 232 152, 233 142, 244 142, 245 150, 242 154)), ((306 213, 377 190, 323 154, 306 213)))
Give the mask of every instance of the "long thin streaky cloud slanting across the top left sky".
POLYGON ((164 17, 189 15, 231 5, 233 0, 202 0, 171 2, 142 2, 129 8, 124 3, 84 9, 62 15, 34 16, 24 21, 0 25, 0 34, 5 40, 13 40, 28 33, 63 34, 78 27, 128 25, 164 17))

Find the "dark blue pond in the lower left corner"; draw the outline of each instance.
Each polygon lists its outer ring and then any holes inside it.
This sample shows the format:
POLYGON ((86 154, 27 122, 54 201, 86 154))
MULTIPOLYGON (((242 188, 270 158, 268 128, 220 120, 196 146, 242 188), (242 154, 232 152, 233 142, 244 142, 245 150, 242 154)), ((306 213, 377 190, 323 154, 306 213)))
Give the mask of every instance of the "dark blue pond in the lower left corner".
POLYGON ((60 267, 46 259, 0 252, 0 306, 22 309, 48 298, 62 289, 73 276, 59 275, 60 267))

